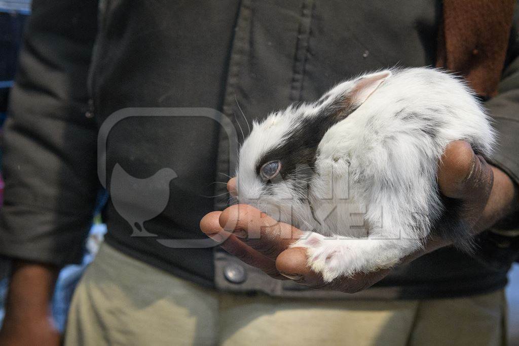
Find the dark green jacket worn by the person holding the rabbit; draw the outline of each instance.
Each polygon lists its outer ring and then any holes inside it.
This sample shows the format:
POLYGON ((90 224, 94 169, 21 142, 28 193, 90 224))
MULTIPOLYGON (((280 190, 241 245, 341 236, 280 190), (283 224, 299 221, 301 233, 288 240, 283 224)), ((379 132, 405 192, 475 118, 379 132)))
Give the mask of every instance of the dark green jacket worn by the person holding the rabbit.
MULTIPOLYGON (((442 12, 439 1, 428 0, 103 0, 95 25, 96 6, 85 0, 33 3, 5 131, 0 224, 0 253, 5 256, 57 265, 80 259, 99 188, 98 130, 117 110, 212 108, 235 124, 242 141, 239 128, 247 135, 248 127, 238 103, 251 121, 293 102, 315 100, 360 72, 434 65, 442 12)), ((510 42, 500 94, 487 105, 500 134, 492 161, 517 182, 515 25, 510 42)), ((104 212, 107 243, 203 285, 277 295, 328 294, 268 280, 249 267, 233 282, 224 274, 229 266, 242 265, 222 252, 171 248, 157 241, 202 239, 201 217, 225 206, 227 196, 211 197, 225 192, 213 182, 225 182, 225 174, 234 170, 224 130, 200 117, 118 122, 107 140, 107 182, 116 163, 138 178, 165 167, 178 176, 170 183, 166 209, 144 223, 158 237, 130 237, 132 226, 109 201, 104 212)), ((133 202, 139 204, 139 196, 133 202)), ((508 266, 492 268, 454 248, 442 248, 396 268, 363 293, 334 295, 483 293, 506 284, 508 266)))

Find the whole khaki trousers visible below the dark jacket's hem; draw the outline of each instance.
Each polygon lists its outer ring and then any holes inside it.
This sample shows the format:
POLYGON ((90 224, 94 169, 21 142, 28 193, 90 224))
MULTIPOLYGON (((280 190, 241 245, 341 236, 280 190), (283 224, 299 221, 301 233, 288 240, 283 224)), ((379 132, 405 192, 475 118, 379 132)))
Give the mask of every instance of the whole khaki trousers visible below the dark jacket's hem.
POLYGON ((103 244, 81 279, 66 345, 501 345, 499 290, 455 299, 307 300, 217 293, 103 244))

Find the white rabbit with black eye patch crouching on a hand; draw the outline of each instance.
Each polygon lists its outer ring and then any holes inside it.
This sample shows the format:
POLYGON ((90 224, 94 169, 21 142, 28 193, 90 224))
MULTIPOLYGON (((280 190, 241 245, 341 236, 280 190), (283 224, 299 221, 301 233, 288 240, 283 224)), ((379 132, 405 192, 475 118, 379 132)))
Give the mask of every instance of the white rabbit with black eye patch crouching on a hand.
MULTIPOLYGON (((495 143, 460 78, 432 68, 364 74, 255 122, 239 153, 238 200, 307 231, 293 246, 307 248, 325 281, 390 267, 455 207, 436 183, 455 140, 487 158, 495 143)), ((440 234, 470 242, 463 227, 440 234)))

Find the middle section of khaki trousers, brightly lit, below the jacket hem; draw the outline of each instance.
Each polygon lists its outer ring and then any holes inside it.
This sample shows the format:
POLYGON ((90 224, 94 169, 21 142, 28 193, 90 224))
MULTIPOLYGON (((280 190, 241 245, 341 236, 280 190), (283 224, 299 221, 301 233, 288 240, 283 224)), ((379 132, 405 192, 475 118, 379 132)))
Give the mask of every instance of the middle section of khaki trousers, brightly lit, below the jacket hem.
POLYGON ((222 294, 220 344, 405 345, 417 301, 303 300, 222 294))

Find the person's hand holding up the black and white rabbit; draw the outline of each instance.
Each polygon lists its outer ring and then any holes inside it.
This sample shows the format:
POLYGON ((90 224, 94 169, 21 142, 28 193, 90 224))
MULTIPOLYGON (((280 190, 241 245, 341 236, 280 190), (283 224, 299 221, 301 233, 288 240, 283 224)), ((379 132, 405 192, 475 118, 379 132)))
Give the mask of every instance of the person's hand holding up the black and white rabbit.
MULTIPOLYGON (((481 232, 511 212, 514 207, 514 184, 499 169, 476 156, 467 142, 450 143, 439 163, 438 184, 448 198, 461 202, 461 217, 474 232, 481 232)), ((236 179, 227 184, 236 195, 236 179)), ((354 293, 367 288, 386 276, 391 269, 357 273, 352 278, 340 277, 325 283, 320 274, 307 265, 306 248, 290 247, 303 232, 291 225, 277 222, 250 205, 237 204, 223 212, 212 212, 200 222, 204 233, 245 263, 260 268, 278 279, 289 278, 314 288, 354 293), (231 225, 231 226, 229 226, 231 225)), ((402 259, 411 261, 448 241, 430 237, 424 250, 402 259)))

